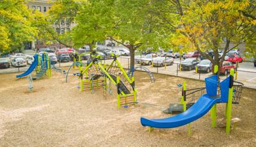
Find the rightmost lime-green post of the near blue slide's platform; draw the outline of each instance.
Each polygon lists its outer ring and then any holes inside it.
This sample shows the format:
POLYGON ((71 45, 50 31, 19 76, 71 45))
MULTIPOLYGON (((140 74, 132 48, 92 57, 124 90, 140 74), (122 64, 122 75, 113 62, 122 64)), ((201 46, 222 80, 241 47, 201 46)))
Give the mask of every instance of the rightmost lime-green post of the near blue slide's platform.
POLYGON ((231 125, 231 114, 232 114, 232 97, 233 97, 233 82, 234 82, 234 68, 230 70, 230 84, 228 89, 228 103, 227 103, 227 125, 226 125, 226 133, 230 133, 230 125, 231 125))

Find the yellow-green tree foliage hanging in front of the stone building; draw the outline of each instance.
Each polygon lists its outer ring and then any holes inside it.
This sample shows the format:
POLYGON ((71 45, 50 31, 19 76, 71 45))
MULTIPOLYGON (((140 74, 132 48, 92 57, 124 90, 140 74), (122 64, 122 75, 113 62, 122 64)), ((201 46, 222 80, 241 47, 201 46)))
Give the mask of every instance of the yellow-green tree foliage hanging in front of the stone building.
POLYGON ((47 13, 35 11, 36 20, 34 25, 39 28, 38 40, 42 42, 59 42, 66 47, 74 47, 71 30, 61 32, 61 24, 69 26, 74 24, 74 18, 81 7, 81 3, 76 0, 56 0, 52 1, 51 9, 47 13), (56 29, 58 28, 58 29, 56 29))

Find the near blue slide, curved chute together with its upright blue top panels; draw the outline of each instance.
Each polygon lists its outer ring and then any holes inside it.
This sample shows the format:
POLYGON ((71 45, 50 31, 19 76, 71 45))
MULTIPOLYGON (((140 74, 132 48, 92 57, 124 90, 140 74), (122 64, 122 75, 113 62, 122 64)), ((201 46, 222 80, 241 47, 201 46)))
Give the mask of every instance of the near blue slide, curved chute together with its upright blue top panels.
POLYGON ((211 107, 216 103, 228 102, 228 88, 230 86, 230 77, 218 82, 218 76, 213 75, 205 78, 207 94, 202 95, 198 101, 187 111, 177 114, 176 116, 163 119, 141 118, 141 125, 154 128, 175 128, 186 125, 204 116, 211 107), (217 89, 220 84, 221 95, 217 97, 217 89))

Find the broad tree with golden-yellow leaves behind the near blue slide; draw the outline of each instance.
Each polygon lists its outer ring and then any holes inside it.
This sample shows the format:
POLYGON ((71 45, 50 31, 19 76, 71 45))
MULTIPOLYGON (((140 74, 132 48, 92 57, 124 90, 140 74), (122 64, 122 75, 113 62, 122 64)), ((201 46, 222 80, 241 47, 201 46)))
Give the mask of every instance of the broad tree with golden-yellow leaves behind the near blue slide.
POLYGON ((255 13, 255 1, 162 0, 153 3, 152 13, 159 19, 156 23, 169 31, 170 38, 187 45, 182 50, 191 46, 191 50, 198 50, 219 67, 229 50, 255 36, 255 19, 249 17, 255 13), (230 42, 236 45, 229 48, 230 42), (225 43, 222 56, 218 53, 221 43, 225 43), (213 50, 214 58, 205 53, 207 50, 213 50))

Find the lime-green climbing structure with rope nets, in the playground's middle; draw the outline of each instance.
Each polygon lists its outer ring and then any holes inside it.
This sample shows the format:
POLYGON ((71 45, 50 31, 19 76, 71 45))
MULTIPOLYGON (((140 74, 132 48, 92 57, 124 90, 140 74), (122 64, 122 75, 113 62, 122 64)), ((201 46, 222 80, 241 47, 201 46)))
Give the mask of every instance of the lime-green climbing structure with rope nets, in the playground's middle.
POLYGON ((110 83, 115 84, 117 88, 118 108, 134 105, 137 103, 134 77, 132 75, 129 77, 126 74, 115 54, 111 54, 111 56, 113 56, 113 61, 108 68, 98 60, 99 56, 93 57, 84 70, 79 67, 81 70, 81 91, 90 90, 93 92, 96 88, 103 88, 104 97, 106 98, 109 81, 109 91, 110 83))

